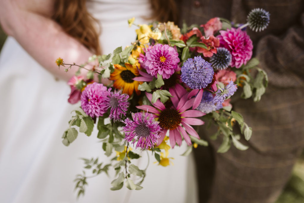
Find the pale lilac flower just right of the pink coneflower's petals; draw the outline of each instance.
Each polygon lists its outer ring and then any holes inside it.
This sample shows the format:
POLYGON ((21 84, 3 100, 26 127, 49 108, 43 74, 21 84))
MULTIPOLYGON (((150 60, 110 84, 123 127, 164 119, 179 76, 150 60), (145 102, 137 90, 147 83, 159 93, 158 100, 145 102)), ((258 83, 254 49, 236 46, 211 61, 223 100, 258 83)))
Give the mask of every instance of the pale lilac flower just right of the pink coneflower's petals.
POLYGON ((212 111, 219 110, 223 108, 222 104, 214 104, 213 96, 210 92, 204 91, 202 96, 202 101, 197 107, 197 110, 202 111, 205 114, 209 114, 212 111))

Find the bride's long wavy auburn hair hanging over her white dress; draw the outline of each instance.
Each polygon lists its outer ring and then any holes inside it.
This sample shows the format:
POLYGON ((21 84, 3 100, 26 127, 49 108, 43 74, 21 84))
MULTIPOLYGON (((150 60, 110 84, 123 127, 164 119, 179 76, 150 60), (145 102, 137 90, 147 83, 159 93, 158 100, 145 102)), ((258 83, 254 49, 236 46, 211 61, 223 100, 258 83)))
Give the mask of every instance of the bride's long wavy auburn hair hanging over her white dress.
MULTIPOLYGON (((154 15, 151 19, 160 22, 178 21, 174 0, 150 0, 154 15)), ((98 21, 88 12, 86 0, 55 0, 54 19, 64 31, 78 40, 94 54, 101 54, 98 21)), ((126 19, 127 20, 127 19, 126 19)))

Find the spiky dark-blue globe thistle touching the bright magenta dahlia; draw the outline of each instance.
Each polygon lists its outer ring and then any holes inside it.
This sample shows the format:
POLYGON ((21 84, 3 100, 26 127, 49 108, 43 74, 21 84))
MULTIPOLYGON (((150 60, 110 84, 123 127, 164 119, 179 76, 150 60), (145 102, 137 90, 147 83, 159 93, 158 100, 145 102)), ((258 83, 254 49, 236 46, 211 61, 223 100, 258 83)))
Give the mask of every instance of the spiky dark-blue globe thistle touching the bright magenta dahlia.
POLYGON ((218 47, 216 49, 216 54, 213 54, 210 58, 212 67, 216 70, 224 70, 228 68, 232 61, 232 55, 228 49, 225 47, 218 47))

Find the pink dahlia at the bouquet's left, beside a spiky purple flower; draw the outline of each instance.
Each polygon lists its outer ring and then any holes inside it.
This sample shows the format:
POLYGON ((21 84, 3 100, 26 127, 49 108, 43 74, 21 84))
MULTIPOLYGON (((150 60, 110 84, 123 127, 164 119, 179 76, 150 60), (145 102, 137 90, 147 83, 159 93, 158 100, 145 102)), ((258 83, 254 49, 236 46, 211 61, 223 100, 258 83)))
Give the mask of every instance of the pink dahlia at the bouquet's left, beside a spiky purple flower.
POLYGON ((91 117, 102 116, 107 110, 105 101, 108 95, 107 87, 103 84, 88 84, 81 94, 81 108, 91 117))

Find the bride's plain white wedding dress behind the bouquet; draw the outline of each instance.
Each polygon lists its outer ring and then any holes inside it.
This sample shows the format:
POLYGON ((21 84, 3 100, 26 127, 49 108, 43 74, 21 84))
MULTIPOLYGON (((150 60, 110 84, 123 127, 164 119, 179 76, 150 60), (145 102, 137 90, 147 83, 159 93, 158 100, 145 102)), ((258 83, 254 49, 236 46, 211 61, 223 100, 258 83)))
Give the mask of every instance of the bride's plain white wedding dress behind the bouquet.
MULTIPOLYGON (((151 14, 148 0, 96 0, 87 5, 102 26, 104 54, 135 40, 135 27, 128 28, 127 19, 136 17, 140 24, 146 22, 142 16, 151 14)), ((70 112, 78 107, 67 103, 69 86, 56 81, 12 37, 8 37, 0 55, 0 86, 1 203, 197 201, 193 158, 179 156, 185 145, 170 151, 174 166, 158 166, 150 157, 142 190, 123 187, 110 191, 114 177, 101 174, 88 180, 85 196, 77 200, 73 180, 83 170, 79 158, 99 157, 104 163, 109 158, 102 151, 96 131, 91 137, 78 135, 68 147, 61 143, 70 112)), ((141 169, 147 165, 146 153, 142 156, 136 163, 141 169)))

